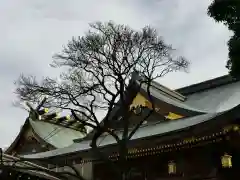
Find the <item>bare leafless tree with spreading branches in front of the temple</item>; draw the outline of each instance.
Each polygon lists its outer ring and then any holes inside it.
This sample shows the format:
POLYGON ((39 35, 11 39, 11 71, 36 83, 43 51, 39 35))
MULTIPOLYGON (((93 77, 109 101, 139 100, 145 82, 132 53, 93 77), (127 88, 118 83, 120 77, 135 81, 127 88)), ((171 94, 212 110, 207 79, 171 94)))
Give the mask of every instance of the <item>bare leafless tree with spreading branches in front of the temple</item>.
MULTIPOLYGON (((97 139, 103 133, 111 135, 119 147, 120 168, 117 169, 120 179, 126 179, 127 143, 155 109, 152 102, 153 107, 129 130, 130 117, 147 109, 130 110, 128 92, 133 84, 132 74, 137 72, 142 77, 137 80, 135 90, 145 86, 149 100, 153 101, 152 81, 169 72, 185 70, 189 63, 183 57, 174 57, 174 49, 166 45, 151 27, 135 31, 113 22, 97 22, 90 24, 90 28, 85 36, 73 38, 54 56, 52 67, 64 70, 60 78, 46 77, 38 82, 34 76, 21 75, 16 82, 16 93, 20 101, 32 103, 39 103, 48 96, 45 106, 70 110, 75 119, 94 129, 91 146, 101 157, 97 139), (121 136, 110 125, 115 108, 121 109, 121 136), (102 122, 98 118, 99 112, 104 112, 102 122), (85 120, 78 118, 79 115, 85 120)), ((108 161, 107 157, 103 158, 108 161)))

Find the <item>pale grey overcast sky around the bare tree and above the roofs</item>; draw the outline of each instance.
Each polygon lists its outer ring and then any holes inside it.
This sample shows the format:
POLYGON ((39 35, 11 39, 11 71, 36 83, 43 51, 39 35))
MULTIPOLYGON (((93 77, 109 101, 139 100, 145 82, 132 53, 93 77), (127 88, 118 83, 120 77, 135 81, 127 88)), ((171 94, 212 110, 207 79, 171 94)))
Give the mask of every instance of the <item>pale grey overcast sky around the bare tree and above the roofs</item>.
POLYGON ((0 146, 9 145, 27 113, 12 106, 20 73, 55 75, 51 57, 88 23, 113 20, 139 29, 157 28, 165 41, 191 61, 188 74, 170 74, 178 88, 227 73, 227 28, 210 19, 211 0, 0 0, 0 146))

